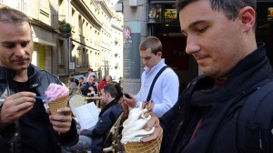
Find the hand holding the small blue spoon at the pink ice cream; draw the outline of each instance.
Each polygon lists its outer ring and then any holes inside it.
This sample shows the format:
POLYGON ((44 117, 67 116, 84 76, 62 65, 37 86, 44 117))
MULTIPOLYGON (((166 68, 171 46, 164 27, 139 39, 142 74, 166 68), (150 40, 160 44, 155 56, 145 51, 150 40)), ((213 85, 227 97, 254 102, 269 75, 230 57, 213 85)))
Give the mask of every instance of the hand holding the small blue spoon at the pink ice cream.
POLYGON ((0 111, 0 128, 14 123, 32 109, 35 96, 35 93, 32 92, 19 92, 6 97, 0 111))

